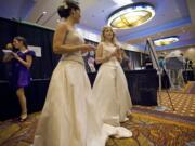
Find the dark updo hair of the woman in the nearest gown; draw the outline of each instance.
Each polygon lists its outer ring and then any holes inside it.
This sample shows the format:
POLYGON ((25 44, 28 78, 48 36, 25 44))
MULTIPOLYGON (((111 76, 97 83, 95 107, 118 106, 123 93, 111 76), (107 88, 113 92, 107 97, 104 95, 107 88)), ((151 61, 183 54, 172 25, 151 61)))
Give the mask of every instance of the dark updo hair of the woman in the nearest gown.
POLYGON ((58 6, 57 13, 60 17, 67 18, 72 10, 80 10, 78 2, 73 0, 64 0, 63 5, 58 6))

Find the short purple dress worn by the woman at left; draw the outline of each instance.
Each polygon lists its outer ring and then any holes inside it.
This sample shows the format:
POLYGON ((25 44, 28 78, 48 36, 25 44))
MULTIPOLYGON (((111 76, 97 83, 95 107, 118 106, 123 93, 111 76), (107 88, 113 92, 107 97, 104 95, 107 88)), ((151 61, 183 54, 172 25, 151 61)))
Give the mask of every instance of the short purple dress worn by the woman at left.
MULTIPOLYGON (((26 61, 26 56, 35 56, 34 51, 27 51, 25 53, 18 51, 17 55, 26 61)), ((30 83, 30 71, 27 69, 22 63, 20 63, 17 59, 13 59, 13 66, 12 66, 12 77, 10 80, 10 84, 14 90, 17 90, 18 88, 25 88, 28 87, 30 83)))

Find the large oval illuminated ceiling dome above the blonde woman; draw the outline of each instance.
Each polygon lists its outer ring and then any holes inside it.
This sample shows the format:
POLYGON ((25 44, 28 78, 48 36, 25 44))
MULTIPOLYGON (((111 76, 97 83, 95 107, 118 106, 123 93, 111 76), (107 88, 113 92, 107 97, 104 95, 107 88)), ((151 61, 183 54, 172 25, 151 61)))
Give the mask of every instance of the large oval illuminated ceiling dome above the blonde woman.
POLYGON ((155 15, 154 6, 139 2, 125 5, 108 16, 108 26, 119 29, 129 29, 151 21, 155 15))

